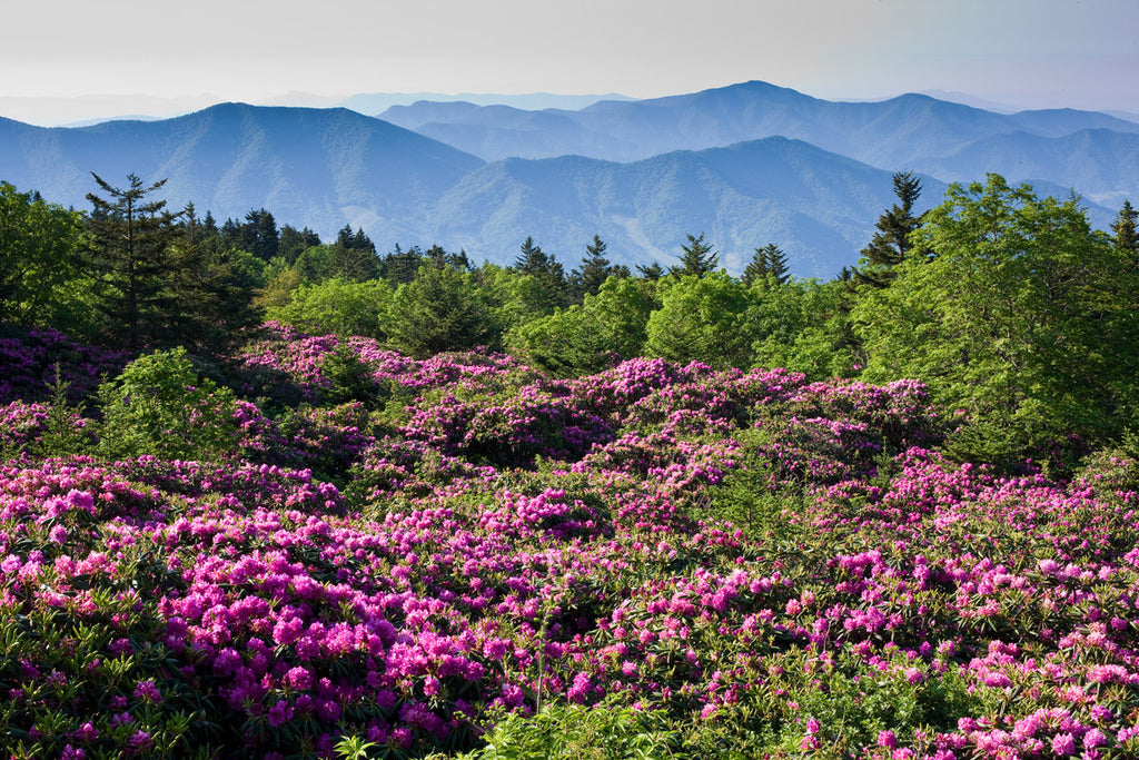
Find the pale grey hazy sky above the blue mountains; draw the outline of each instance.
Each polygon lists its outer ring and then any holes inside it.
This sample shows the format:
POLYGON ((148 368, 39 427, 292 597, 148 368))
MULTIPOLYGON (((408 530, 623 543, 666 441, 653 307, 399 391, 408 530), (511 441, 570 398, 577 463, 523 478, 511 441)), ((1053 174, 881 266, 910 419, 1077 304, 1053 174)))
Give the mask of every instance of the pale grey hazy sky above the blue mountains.
POLYGON ((80 96, 656 97, 747 80, 1139 114, 1139 0, 0 0, 0 115, 17 119, 5 109, 80 96))

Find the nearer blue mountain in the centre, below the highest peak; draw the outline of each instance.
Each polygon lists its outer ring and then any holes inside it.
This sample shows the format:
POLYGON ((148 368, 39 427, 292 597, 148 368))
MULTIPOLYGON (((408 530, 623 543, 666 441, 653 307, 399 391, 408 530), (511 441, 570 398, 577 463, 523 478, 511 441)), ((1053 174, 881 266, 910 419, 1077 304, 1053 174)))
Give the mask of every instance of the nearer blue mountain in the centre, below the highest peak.
MULTIPOLYGON (((944 189, 926 180, 926 198, 944 189)), ((858 258, 893 202, 888 172, 769 138, 625 164, 582 156, 490 163, 443 196, 432 232, 510 261, 527 230, 543 230, 535 240, 572 263, 599 234, 623 260, 667 265, 686 232, 703 231, 730 271, 777 243, 796 273, 831 277, 858 258)))

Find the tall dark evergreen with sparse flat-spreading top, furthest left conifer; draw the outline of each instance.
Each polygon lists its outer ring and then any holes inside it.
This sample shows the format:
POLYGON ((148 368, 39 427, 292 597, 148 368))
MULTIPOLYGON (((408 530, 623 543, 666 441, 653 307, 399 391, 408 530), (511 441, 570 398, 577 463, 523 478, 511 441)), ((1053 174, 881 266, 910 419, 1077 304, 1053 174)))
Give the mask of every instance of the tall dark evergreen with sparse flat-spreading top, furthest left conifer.
POLYGON ((113 343, 133 350, 161 343, 169 338, 166 326, 177 319, 177 300, 166 283, 181 284, 179 262, 171 255, 180 214, 167 211, 165 201, 147 196, 166 180, 145 187, 136 174, 129 174, 128 187, 116 188, 91 175, 108 196, 87 196, 92 213, 84 251, 104 333, 113 343))

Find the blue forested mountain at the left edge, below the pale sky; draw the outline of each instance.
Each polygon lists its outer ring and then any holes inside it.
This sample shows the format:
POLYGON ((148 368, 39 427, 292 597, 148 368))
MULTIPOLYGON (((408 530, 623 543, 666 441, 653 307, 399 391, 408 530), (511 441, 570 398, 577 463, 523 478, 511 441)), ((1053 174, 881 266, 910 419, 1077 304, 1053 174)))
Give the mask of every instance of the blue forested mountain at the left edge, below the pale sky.
POLYGON ((325 236, 345 223, 408 239, 475 156, 344 108, 222 104, 157 122, 44 129, 0 122, 0 178, 85 207, 90 172, 167 178, 172 205, 219 219, 269 209, 325 236))

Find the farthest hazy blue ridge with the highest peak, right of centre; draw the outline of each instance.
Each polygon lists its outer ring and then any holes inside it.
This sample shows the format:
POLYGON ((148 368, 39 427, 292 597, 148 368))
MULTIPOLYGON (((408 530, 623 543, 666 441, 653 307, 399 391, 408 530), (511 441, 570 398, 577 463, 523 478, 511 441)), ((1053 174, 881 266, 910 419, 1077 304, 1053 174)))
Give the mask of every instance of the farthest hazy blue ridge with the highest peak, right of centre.
MULTIPOLYGON (((997 136, 1023 133, 1039 140, 1085 130, 1100 130, 1096 139, 1108 139, 1108 131, 1139 134, 1139 123, 1098 112, 1059 108, 999 114, 925 95, 875 103, 831 101, 765 82, 650 100, 601 101, 580 111, 417 103, 388 108, 380 117, 486 161, 560 155, 638 161, 672 150, 787 137, 880 169, 915 169, 939 177, 952 166, 952 156, 983 150, 980 146, 997 136)), ((1093 153, 1089 150, 1089 157, 1093 153)), ((1075 187, 1107 203, 1139 196, 1139 175, 1121 187, 1111 177, 1112 163, 1107 158, 1085 167, 1075 187)), ((1032 173, 1019 174, 1016 165, 1002 165, 1010 180, 1073 185, 1066 166, 1039 165, 1032 173)), ((969 170, 976 166, 970 164, 969 170)))

